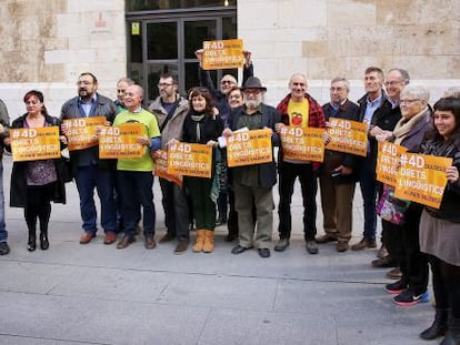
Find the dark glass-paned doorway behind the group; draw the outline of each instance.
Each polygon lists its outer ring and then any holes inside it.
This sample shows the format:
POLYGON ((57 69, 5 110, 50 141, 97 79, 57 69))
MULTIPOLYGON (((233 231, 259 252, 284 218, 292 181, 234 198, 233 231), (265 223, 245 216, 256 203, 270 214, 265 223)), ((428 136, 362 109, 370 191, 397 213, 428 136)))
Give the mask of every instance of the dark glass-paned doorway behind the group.
MULTIPOLYGON (((203 41, 237 38, 236 8, 130 14, 127 24, 128 77, 144 88, 147 104, 158 97, 162 73, 178 78, 181 94, 199 84, 194 51, 203 41)), ((211 71, 214 84, 222 74, 237 77, 238 70, 211 71)))

